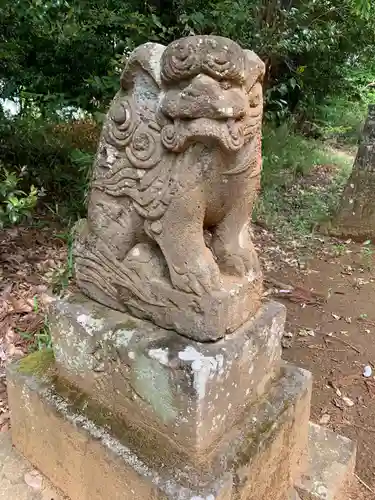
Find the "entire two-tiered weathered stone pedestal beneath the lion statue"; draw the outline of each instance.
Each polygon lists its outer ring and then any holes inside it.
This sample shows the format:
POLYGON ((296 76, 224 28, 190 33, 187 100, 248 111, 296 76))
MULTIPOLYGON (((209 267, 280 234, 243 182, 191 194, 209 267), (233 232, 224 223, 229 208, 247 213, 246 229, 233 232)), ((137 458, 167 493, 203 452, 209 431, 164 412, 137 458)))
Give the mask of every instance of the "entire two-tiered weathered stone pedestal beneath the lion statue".
POLYGON ((284 321, 267 303, 199 343, 81 295, 55 301, 54 352, 8 370, 14 444, 71 500, 310 498, 311 376, 281 360, 284 321))

